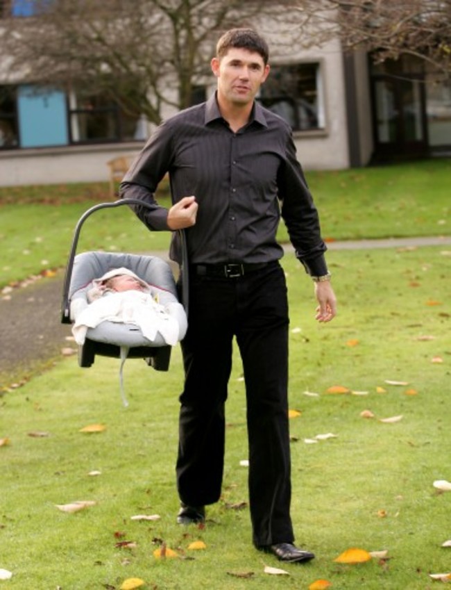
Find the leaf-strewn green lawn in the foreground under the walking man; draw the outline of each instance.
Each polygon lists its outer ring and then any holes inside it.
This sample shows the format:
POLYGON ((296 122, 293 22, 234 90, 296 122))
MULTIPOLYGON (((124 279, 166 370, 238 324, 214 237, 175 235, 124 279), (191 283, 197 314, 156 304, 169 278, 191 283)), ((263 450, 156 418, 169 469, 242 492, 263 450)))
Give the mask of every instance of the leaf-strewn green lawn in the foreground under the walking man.
POLYGON ((139 577, 149 590, 307 590, 321 578, 341 590, 438 587, 429 573, 451 571, 451 548, 441 546, 451 539, 451 492, 433 486, 451 480, 450 252, 335 251, 328 261, 339 315, 318 325, 311 282, 293 255, 284 258, 290 407, 301 412, 291 420, 292 516, 298 543, 317 555, 313 562, 284 566, 254 550, 248 507, 236 507, 248 499, 237 354, 223 496, 208 510, 205 528, 176 525, 176 347, 167 373, 126 362, 128 409, 119 395, 119 361, 103 358, 90 369, 78 368, 76 357, 62 359, 0 398, 0 439, 10 441, 0 446, 0 569, 13 573, 0 586, 119 590, 139 577), (327 393, 332 386, 349 393, 327 393), (374 417, 361 417, 363 411, 374 417), (402 419, 380 421, 393 416, 402 419), (80 432, 91 424, 106 429, 80 432), (336 436, 315 439, 327 433, 336 436), (92 470, 101 473, 88 475, 92 470), (56 508, 74 500, 96 504, 75 514, 56 508), (131 520, 142 514, 160 520, 131 520), (197 540, 205 550, 189 550, 197 540), (133 546, 118 545, 124 541, 133 546), (162 542, 179 557, 155 559, 162 542), (334 562, 352 547, 388 553, 359 565, 334 562), (289 575, 266 574, 265 565, 289 575))

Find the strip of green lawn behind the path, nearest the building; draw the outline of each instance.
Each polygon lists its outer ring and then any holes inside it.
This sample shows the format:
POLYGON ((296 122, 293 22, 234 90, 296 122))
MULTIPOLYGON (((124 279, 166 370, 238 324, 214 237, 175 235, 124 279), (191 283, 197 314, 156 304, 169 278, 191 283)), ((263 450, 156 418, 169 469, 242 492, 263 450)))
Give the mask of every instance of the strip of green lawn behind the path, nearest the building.
MULTIPOLYGON (((326 240, 450 233, 449 159, 336 172, 307 172, 326 240)), ((158 198, 169 204, 167 187, 158 198)), ((0 288, 62 268, 76 222, 108 202, 108 184, 0 188, 0 288)), ((281 225, 279 238, 287 240, 281 225)), ((78 252, 166 250, 168 232, 149 232, 128 207, 103 209, 83 225, 78 252)))

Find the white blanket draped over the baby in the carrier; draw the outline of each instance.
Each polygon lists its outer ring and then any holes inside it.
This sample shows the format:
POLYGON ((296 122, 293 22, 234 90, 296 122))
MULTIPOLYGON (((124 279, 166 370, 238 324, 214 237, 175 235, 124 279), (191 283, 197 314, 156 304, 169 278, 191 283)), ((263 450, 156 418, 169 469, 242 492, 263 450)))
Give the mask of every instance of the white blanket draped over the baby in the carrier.
POLYGON ((160 332, 167 344, 173 346, 178 342, 177 320, 148 293, 127 290, 93 301, 78 314, 72 326, 76 343, 83 345, 87 329, 105 321, 136 325, 149 341, 155 340, 157 332, 160 332))

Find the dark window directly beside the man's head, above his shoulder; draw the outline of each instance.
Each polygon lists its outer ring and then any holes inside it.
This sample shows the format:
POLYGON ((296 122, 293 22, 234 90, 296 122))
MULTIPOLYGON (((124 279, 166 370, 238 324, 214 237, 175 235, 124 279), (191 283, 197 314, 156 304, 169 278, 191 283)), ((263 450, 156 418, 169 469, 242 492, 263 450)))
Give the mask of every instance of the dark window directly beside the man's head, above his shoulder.
POLYGON ((318 63, 273 65, 259 101, 284 118, 293 131, 324 129, 321 66, 318 63))

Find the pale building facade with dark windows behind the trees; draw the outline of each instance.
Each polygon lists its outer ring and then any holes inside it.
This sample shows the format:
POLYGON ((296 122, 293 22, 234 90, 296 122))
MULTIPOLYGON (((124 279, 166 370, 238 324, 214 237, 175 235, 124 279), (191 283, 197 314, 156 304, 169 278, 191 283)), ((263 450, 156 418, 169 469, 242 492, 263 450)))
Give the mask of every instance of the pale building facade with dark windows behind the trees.
MULTIPOLYGON (((32 3, 8 6, 19 17, 32 3)), ((363 52, 343 54, 338 39, 293 47, 272 60, 259 101, 291 124, 305 170, 451 152, 451 84, 421 60, 375 66, 363 52)), ((151 131, 106 96, 6 83, 0 69, 0 186, 105 181, 108 162, 137 154, 151 131)))

